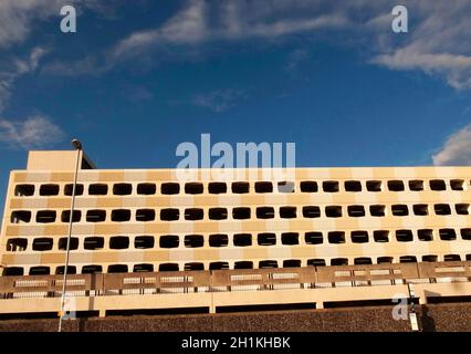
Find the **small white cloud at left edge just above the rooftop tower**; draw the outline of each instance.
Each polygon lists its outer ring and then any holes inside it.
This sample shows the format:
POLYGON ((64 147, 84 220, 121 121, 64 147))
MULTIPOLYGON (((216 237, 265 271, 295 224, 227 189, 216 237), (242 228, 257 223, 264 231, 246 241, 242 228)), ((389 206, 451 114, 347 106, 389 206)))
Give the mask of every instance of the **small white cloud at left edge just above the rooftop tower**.
POLYGON ((0 142, 10 148, 39 148, 63 138, 62 129, 42 115, 28 117, 24 122, 0 118, 0 142))

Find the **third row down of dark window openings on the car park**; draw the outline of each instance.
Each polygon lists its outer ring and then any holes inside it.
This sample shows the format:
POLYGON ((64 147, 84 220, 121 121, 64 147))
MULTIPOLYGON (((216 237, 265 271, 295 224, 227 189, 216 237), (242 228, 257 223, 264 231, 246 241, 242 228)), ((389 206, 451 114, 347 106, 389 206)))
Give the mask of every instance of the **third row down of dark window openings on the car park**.
MULTIPOLYGON (((414 231, 408 229, 396 230, 395 232, 388 230, 375 230, 368 232, 365 230, 357 230, 349 232, 349 239, 353 243, 367 243, 370 241, 375 242, 389 242, 390 233, 395 235, 396 241, 398 242, 411 242, 415 240, 414 231)), ((438 238, 442 241, 452 241, 457 239, 457 233, 461 236, 463 240, 471 240, 471 228, 454 229, 419 229, 416 231, 417 240, 419 241, 432 241, 438 238)), ((347 235, 344 231, 329 231, 325 235, 321 231, 307 231, 304 233, 300 232, 282 232, 280 238, 274 232, 260 232, 255 235, 255 241, 252 240, 252 233, 236 233, 232 237, 232 244, 236 247, 248 247, 254 242, 259 246, 295 246, 300 244, 300 238, 304 238, 306 244, 322 244, 324 242, 338 244, 347 242, 347 235)), ((181 238, 178 235, 163 235, 158 238, 158 247, 163 249, 178 248, 180 247, 181 238)), ((213 233, 208 237, 209 247, 228 247, 230 237, 227 233, 213 233)), ((50 251, 53 249, 54 241, 52 238, 35 238, 32 242, 33 251, 50 251)), ((186 248, 200 248, 205 247, 206 241, 202 235, 186 235, 182 237, 182 246, 186 248)), ((104 237, 86 237, 83 241, 83 248, 85 250, 98 250, 105 246, 104 237)), ((127 236, 114 236, 108 239, 109 249, 123 250, 128 249, 130 246, 129 237, 127 236)), ((59 239, 59 250, 66 250, 67 239, 59 239)), ((154 236, 137 236, 134 239, 135 249, 153 249, 156 247, 154 236)), ((28 249, 27 238, 11 238, 7 241, 7 251, 19 252, 28 249)), ((71 238, 71 250, 78 249, 78 238, 71 238)))

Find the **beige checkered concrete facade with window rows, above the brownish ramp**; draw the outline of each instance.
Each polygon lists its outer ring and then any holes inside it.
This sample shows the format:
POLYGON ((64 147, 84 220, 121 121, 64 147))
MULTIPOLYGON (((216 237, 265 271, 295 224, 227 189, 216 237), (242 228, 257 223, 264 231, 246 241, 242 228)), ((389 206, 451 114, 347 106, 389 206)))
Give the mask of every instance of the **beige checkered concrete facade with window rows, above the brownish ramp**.
MULTIPOLYGON (((28 169, 11 171, 4 275, 61 273, 74 156, 32 152, 28 169)), ((471 259, 471 167, 297 168, 290 180, 263 179, 263 170, 211 175, 181 181, 176 169, 81 169, 72 271, 471 259)))

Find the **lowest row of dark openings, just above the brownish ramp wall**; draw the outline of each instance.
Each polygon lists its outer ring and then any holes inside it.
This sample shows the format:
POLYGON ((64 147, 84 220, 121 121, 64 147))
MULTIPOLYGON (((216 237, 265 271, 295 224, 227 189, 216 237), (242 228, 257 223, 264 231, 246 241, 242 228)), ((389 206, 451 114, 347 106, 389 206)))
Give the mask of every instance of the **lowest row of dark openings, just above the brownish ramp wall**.
MULTIPOLYGON (((471 260, 471 254, 465 256, 465 260, 471 260)), ((394 258, 393 257, 378 257, 376 259, 376 262, 378 264, 381 263, 393 263, 394 258)), ((414 263, 418 262, 416 256, 401 256, 399 257, 400 263, 414 263)), ((427 254, 421 257, 422 262, 437 262, 438 256, 436 254, 427 254)), ((460 254, 446 254, 443 256, 443 261, 461 261, 460 254)), ((327 266, 325 259, 308 259, 306 262, 307 267, 324 267, 327 266)), ((362 264, 373 264, 373 259, 369 257, 358 257, 354 259, 355 266, 362 266, 362 264)), ((262 260, 259 262, 252 262, 252 261, 237 261, 234 262, 233 269, 253 269, 255 266, 258 266, 259 269, 270 269, 270 268, 300 268, 302 267, 302 262, 299 259, 287 259, 283 261, 276 261, 276 260, 262 260)), ((331 266, 348 266, 348 259, 347 258, 333 258, 331 259, 331 266)), ((224 270, 229 269, 229 262, 211 262, 209 263, 209 270, 224 270)), ((142 263, 142 264, 135 264, 133 268, 129 269, 127 264, 111 264, 107 267, 107 273, 127 273, 129 271, 132 272, 154 272, 157 269, 154 268, 154 264, 151 263, 142 263)), ((191 262, 186 263, 182 269, 180 269, 180 266, 178 263, 160 263, 158 266, 158 271, 192 271, 192 270, 205 270, 205 264, 201 262, 191 262)), ((63 274, 64 273, 64 266, 56 267, 55 274, 63 274)), ((77 267, 76 266, 69 266, 67 267, 67 273, 69 274, 76 274, 77 273, 77 267)), ((82 274, 93 274, 93 273, 103 273, 103 266, 100 264, 88 264, 83 266, 81 270, 82 274)), ((51 274, 51 268, 46 266, 38 266, 38 267, 31 267, 29 269, 29 275, 45 275, 51 274)), ((24 269, 22 267, 8 267, 3 270, 3 275, 24 275, 24 269)))

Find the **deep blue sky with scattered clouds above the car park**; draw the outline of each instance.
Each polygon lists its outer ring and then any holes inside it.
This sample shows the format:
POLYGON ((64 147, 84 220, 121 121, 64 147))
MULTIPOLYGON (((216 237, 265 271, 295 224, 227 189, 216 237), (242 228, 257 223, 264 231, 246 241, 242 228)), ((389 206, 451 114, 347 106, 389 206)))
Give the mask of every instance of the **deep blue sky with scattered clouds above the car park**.
POLYGON ((203 133, 296 143, 299 166, 470 165, 471 4, 402 1, 394 33, 395 4, 2 0, 0 200, 73 137, 101 168, 175 167, 203 133))

